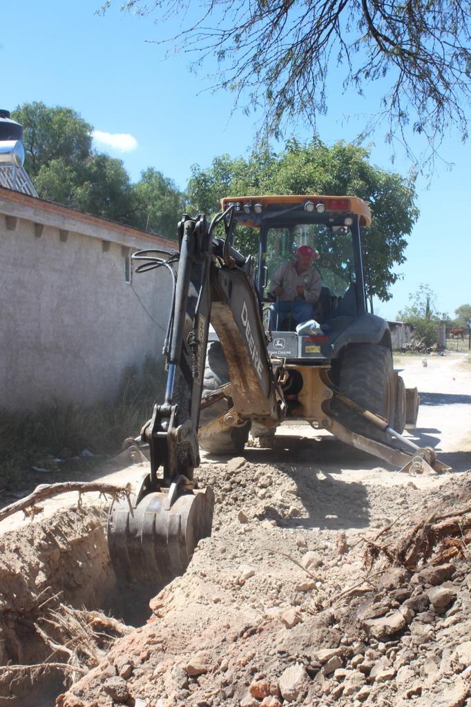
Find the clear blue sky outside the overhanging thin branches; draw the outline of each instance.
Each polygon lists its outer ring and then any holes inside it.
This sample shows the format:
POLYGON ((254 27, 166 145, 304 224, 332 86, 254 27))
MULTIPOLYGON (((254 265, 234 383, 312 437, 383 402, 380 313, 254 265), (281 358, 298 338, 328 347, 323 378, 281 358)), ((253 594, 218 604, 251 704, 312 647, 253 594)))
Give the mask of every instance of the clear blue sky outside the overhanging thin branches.
MULTIPOLYGON (((164 37, 171 27, 120 13, 119 2, 104 17, 96 16, 100 4, 16 0, 14 6, 2 7, 0 107, 13 110, 33 100, 66 105, 81 113, 102 139, 128 136, 114 139, 117 144, 127 141, 127 151, 98 141, 96 146, 120 157, 133 180, 153 166, 185 187, 192 164, 205 167, 222 153, 245 155, 258 117, 234 111, 228 93, 211 93, 206 78, 214 71, 211 62, 195 75, 184 52, 165 59, 165 49, 149 41, 164 37)), ((332 71, 329 112, 318 123, 327 144, 354 139, 371 107, 368 96, 341 95, 336 76, 332 71), (347 115, 353 117, 347 120, 347 115)), ((375 86, 369 98, 377 97, 375 86)), ((309 137, 300 125, 294 124, 291 132, 300 139, 309 137)), ((407 173, 409 162, 400 149, 391 164, 383 132, 378 129, 371 138, 372 161, 407 173)), ((392 288, 392 300, 377 305, 384 317, 394 318, 421 283, 431 286, 439 309, 451 315, 459 305, 471 303, 471 233, 464 216, 470 199, 470 143, 463 145, 450 135, 442 154, 454 167, 449 170, 438 161, 430 185, 419 178, 421 216, 409 239, 407 262, 398 268, 404 279, 392 288)))

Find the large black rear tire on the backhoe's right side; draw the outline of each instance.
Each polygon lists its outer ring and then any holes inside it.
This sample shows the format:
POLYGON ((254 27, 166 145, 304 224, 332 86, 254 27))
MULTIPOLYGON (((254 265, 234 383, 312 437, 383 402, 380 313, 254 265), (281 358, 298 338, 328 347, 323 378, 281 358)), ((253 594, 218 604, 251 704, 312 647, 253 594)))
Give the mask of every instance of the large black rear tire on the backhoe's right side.
MULTIPOLYGON (((389 424, 394 420, 395 395, 392 354, 377 344, 351 344, 340 361, 339 390, 389 424)), ((368 423, 349 407, 337 402, 335 410, 354 432, 385 440, 383 431, 368 423)))

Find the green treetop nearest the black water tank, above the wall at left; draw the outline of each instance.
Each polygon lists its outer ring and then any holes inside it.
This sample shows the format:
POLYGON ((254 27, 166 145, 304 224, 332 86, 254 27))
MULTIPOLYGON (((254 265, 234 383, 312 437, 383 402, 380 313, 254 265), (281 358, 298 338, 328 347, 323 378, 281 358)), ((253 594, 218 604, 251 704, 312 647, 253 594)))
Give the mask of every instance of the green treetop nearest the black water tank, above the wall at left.
POLYGON ((11 116, 23 125, 25 170, 33 180, 51 160, 76 168, 91 153, 92 126, 71 108, 34 101, 19 105, 11 116))

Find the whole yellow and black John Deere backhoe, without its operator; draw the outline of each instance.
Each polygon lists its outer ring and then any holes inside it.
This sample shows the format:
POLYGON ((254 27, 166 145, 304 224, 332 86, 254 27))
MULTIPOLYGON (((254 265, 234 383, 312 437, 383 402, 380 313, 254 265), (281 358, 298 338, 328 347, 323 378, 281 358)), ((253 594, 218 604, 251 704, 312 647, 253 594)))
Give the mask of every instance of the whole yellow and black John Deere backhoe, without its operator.
POLYGON ((367 308, 367 204, 290 195, 226 198, 221 207, 211 223, 182 216, 178 252, 133 255, 136 272, 163 268, 173 282, 165 399, 131 440, 150 472, 132 508, 115 501, 108 519, 115 571, 149 596, 211 534, 214 496, 194 477, 200 447, 240 453, 250 428, 269 438, 284 420, 303 420, 390 464, 444 468, 402 435, 419 399, 393 370, 388 323, 367 308), (322 288, 312 320, 296 327, 289 315, 274 317, 267 286, 300 245, 319 252, 322 288))

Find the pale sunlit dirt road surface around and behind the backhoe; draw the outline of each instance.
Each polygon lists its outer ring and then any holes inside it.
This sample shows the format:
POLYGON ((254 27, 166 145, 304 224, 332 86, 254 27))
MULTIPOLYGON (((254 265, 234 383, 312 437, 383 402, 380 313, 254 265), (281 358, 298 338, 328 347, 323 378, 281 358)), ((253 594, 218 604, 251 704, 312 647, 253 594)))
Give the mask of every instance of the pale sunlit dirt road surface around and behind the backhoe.
MULTIPOLYGON (((406 431, 405 436, 409 436, 421 447, 434 447, 440 460, 453 467, 455 472, 471 468, 471 364, 466 365, 466 358, 466 354, 395 358, 395 368, 400 370, 406 387, 417 386, 420 394, 417 430, 406 431), (426 361, 426 366, 423 361, 426 361)), ((253 463, 269 463, 280 459, 290 461, 296 451, 297 460, 322 462, 328 472, 342 473, 344 478, 353 478, 353 474, 357 481, 376 477, 375 467, 384 467, 383 462, 352 450, 329 433, 315 431, 308 424, 284 423, 278 429, 277 436, 280 443, 274 452, 248 449, 246 458, 253 463)), ((211 457, 202 452, 202 459, 205 462, 211 457)), ((99 472, 90 474, 88 479, 134 485, 146 471, 145 465, 141 464, 130 464, 118 470, 112 467, 113 463, 108 462, 99 472)), ((392 469, 387 465, 386 468, 392 469)), ((394 482, 395 474, 388 475, 388 484, 394 482)), ((57 513, 59 508, 75 504, 76 500, 77 493, 66 493, 50 499, 44 504, 45 518, 57 513)), ((85 500, 86 503, 97 501, 98 494, 88 494, 85 500)), ((0 533, 15 530, 24 522, 23 515, 17 513, 0 522, 0 533)))

